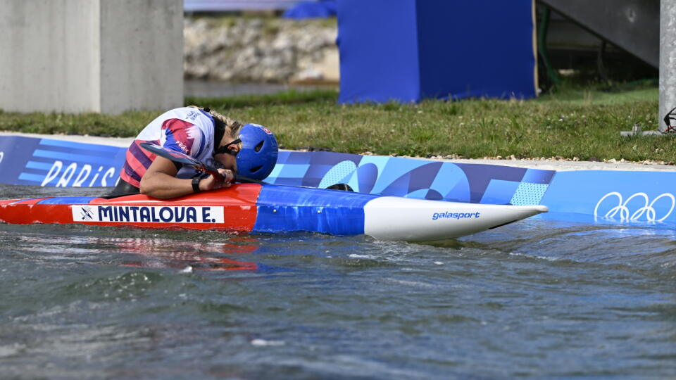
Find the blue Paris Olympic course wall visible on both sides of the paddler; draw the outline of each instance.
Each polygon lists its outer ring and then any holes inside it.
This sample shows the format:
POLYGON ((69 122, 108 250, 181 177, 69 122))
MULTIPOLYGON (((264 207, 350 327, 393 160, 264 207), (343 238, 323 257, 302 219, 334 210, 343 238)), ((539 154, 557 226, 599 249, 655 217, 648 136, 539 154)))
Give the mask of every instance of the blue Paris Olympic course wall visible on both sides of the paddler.
MULTIPOLYGON (((0 184, 104 186, 118 181, 125 146, 0 136, 0 184)), ((602 223, 676 222, 676 171, 554 171, 332 152, 280 151, 265 182, 470 203, 546 205, 541 217, 602 223)), ((101 189, 101 194, 108 189, 101 189)))

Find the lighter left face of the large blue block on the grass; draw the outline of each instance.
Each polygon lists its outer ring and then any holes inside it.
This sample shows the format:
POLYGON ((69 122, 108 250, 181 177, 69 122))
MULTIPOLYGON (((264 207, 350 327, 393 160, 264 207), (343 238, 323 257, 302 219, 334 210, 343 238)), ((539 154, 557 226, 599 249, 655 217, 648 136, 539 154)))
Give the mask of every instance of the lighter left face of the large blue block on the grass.
POLYGON ((339 103, 420 100, 413 0, 338 2, 339 103))

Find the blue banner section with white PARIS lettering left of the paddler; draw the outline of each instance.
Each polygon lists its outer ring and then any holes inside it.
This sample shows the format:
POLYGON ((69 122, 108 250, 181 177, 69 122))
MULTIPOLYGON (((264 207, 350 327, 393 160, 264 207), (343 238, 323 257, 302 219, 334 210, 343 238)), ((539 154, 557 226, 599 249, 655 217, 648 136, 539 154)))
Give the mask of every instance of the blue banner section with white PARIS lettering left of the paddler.
POLYGON ((4 184, 115 186, 126 148, 57 139, 0 137, 0 182, 4 184))

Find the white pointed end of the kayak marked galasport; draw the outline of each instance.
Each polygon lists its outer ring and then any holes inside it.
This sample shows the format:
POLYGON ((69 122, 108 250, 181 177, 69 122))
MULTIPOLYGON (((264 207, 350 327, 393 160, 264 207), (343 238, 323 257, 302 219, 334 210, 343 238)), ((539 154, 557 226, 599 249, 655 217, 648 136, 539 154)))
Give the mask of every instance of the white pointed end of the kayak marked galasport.
POLYGON ((364 233, 382 240, 444 240, 547 211, 544 205, 487 205, 383 196, 364 206, 364 233))

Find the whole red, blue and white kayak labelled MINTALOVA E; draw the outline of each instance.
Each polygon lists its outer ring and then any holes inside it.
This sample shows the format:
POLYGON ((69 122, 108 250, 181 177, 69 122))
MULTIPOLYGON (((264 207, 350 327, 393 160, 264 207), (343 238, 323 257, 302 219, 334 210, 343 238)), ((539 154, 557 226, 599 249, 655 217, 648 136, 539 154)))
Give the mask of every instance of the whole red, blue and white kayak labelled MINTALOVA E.
POLYGON ((0 201, 0 221, 11 224, 366 234, 395 241, 451 239, 546 211, 544 205, 431 201, 273 184, 234 184, 168 200, 136 194, 0 201))

